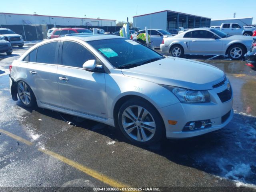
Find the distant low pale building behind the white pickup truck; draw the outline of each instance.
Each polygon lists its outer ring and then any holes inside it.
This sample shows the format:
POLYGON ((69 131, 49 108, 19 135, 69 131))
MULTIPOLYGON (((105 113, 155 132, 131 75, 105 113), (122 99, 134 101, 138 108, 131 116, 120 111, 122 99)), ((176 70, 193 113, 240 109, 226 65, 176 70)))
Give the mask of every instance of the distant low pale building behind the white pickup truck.
POLYGON ((222 23, 238 23, 241 26, 251 25, 252 19, 253 17, 212 20, 211 26, 220 26, 222 23))

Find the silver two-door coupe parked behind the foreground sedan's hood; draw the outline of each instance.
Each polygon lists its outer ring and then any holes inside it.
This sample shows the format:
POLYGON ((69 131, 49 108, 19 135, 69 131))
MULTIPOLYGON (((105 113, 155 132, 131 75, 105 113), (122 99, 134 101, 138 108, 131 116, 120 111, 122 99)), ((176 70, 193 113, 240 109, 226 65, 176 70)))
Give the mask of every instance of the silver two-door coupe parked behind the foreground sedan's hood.
POLYGON ((229 36, 214 28, 195 28, 164 38, 160 49, 174 57, 190 55, 228 55, 240 60, 250 50, 251 36, 229 36))

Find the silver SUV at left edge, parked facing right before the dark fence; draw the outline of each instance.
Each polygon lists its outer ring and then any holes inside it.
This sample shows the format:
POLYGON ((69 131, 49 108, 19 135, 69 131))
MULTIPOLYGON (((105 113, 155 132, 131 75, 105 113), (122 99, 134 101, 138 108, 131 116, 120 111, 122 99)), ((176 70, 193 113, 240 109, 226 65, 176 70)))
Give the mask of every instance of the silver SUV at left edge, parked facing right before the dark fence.
POLYGON ((4 37, 6 41, 9 41, 12 46, 24 46, 23 37, 10 29, 0 28, 0 36, 4 37))

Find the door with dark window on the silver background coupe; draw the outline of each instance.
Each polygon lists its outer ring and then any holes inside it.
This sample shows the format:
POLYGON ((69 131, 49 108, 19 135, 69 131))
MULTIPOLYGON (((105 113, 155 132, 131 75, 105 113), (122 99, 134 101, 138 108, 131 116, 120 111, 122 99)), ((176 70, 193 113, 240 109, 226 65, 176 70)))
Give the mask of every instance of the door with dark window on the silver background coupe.
POLYGON ((221 54, 222 41, 214 39, 214 34, 207 30, 195 30, 191 32, 191 39, 188 42, 191 54, 221 54))

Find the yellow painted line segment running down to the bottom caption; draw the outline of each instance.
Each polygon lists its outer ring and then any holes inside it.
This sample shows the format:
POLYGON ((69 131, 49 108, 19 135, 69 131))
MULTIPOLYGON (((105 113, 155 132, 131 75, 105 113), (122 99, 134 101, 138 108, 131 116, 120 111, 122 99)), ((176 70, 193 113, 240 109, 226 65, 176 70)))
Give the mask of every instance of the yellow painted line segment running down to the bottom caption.
POLYGON ((66 163, 66 164, 68 164, 68 165, 70 165, 70 166, 72 166, 72 167, 74 167, 74 168, 76 168, 76 169, 92 176, 93 178, 96 178, 97 180, 102 181, 102 182, 104 182, 104 183, 106 183, 106 184, 108 184, 112 187, 128 187, 127 184, 123 184, 123 183, 118 182, 114 179, 111 179, 108 176, 105 176, 104 174, 98 173, 95 170, 92 170, 92 169, 90 169, 90 168, 88 168, 88 167, 86 167, 82 164, 74 162, 74 161, 72 161, 72 160, 70 160, 70 159, 68 159, 64 156, 61 156, 61 155, 57 154, 57 153, 54 153, 54 152, 49 151, 47 149, 40 149, 39 148, 38 150, 45 153, 45 154, 48 154, 49 156, 52 156, 52 157, 54 157, 54 158, 56 158, 56 159, 58 159, 58 160, 60 160, 64 163, 66 163))

